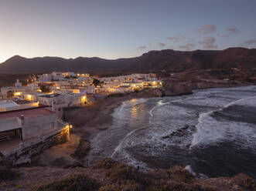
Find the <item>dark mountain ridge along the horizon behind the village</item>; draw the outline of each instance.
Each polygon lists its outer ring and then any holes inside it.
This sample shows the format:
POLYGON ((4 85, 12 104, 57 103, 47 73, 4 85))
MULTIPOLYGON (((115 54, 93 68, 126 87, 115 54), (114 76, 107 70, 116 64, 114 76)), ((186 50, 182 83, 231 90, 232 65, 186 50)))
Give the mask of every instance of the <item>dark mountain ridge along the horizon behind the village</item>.
POLYGON ((36 57, 26 59, 15 55, 0 64, 2 74, 31 74, 53 71, 128 73, 183 71, 189 69, 256 68, 256 49, 229 48, 224 50, 150 51, 131 59, 101 59, 77 57, 36 57))

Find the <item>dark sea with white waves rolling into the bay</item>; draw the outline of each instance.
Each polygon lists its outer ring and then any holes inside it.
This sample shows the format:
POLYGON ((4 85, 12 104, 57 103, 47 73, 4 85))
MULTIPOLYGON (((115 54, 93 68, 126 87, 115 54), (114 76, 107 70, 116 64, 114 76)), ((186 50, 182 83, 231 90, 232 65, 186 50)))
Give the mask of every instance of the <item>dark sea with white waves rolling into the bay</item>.
POLYGON ((256 86, 131 99, 111 115, 90 139, 90 165, 112 158, 142 170, 179 165, 200 178, 256 179, 256 86))

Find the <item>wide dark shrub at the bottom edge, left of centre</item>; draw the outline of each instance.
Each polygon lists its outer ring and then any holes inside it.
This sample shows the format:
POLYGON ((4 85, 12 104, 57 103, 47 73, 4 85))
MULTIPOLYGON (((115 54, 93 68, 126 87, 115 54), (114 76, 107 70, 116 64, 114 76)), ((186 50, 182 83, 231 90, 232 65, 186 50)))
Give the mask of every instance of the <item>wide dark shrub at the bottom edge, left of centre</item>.
POLYGON ((99 187, 100 183, 96 180, 90 179, 82 173, 76 173, 42 186, 35 186, 32 191, 94 191, 99 187))

